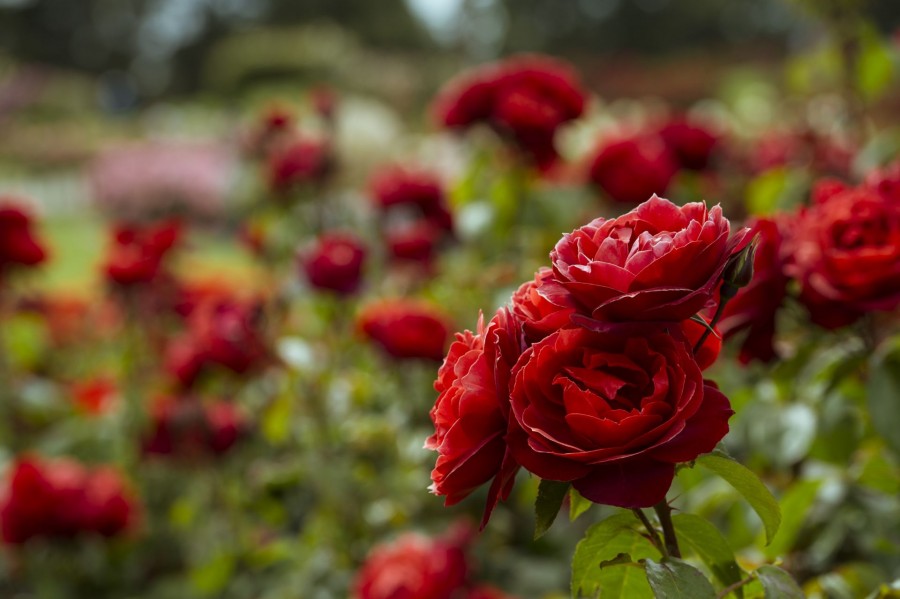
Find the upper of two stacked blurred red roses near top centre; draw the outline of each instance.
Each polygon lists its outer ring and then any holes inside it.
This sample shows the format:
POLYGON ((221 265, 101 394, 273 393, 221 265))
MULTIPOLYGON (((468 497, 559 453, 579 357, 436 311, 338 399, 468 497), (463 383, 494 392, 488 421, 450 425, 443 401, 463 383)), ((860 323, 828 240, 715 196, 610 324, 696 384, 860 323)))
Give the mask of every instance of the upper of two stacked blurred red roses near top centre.
POLYGON ((424 220, 446 231, 453 230, 453 216, 440 179, 434 173, 399 165, 376 172, 369 183, 369 193, 381 212, 409 207, 424 220))

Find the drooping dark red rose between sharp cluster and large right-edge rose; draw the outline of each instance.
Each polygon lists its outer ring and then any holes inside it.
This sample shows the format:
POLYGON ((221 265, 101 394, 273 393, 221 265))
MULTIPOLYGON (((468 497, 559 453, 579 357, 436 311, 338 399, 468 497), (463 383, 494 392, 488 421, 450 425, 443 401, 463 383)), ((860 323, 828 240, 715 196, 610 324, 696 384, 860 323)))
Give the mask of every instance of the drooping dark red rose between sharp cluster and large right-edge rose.
POLYGON ((784 274, 783 236, 778 223, 759 218, 750 225, 750 235, 759 236, 753 280, 725 305, 718 325, 726 339, 747 332, 739 356, 744 364, 754 359, 770 362, 777 357, 772 344, 775 316, 784 302, 789 281, 784 274))

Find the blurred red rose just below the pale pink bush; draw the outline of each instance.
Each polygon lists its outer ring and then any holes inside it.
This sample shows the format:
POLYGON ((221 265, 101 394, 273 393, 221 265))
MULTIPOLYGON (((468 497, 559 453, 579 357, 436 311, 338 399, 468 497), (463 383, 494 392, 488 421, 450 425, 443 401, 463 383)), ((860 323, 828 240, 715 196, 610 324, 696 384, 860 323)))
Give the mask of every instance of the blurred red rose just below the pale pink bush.
POLYGON ((180 237, 181 225, 174 220, 155 225, 116 225, 104 266, 106 278, 122 287, 152 283, 180 237))

